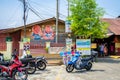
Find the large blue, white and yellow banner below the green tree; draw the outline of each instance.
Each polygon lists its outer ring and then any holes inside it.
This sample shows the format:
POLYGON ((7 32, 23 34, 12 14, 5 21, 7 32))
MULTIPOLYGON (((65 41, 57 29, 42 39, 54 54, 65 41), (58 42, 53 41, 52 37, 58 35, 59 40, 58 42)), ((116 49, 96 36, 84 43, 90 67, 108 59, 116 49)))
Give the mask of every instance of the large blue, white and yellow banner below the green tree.
POLYGON ((76 49, 81 52, 82 55, 91 54, 91 40, 90 39, 77 39, 76 40, 76 49))

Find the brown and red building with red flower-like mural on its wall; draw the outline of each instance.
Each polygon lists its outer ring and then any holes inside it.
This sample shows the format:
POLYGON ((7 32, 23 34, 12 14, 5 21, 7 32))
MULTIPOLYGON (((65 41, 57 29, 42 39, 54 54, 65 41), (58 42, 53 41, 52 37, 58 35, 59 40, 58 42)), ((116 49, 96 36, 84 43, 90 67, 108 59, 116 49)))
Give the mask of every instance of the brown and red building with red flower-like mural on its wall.
MULTIPOLYGON (((56 18, 50 18, 50 19, 46 19, 46 20, 42 20, 42 21, 38 21, 35 23, 31 23, 26 25, 26 37, 31 39, 30 42, 30 48, 31 48, 31 52, 32 53, 46 53, 45 51, 45 42, 50 41, 51 42, 51 46, 65 46, 65 38, 67 36, 67 34, 65 33, 65 22, 63 20, 58 20, 58 44, 55 43, 55 39, 56 39, 56 18), (33 34, 34 32, 36 33, 37 31, 39 31, 38 27, 40 27, 40 30, 43 33, 46 33, 47 30, 47 35, 44 35, 44 37, 40 36, 38 37, 38 35, 36 36, 35 34, 33 34), (35 28, 36 27, 36 28, 35 28), (45 36, 48 36, 48 31, 51 30, 53 37, 51 37, 51 39, 47 39, 45 36), (34 38, 33 38, 34 37, 34 38), (36 39, 36 40, 35 40, 36 39), (38 39, 38 40, 37 40, 38 39), (37 52, 36 52, 37 51, 37 52)), ((21 27, 17 27, 17 28, 9 28, 9 29, 2 29, 0 30, 0 51, 2 51, 4 53, 4 51, 6 51, 6 41, 10 42, 12 41, 12 50, 17 49, 18 51, 20 51, 20 42, 23 41, 24 38, 24 26, 21 27)))

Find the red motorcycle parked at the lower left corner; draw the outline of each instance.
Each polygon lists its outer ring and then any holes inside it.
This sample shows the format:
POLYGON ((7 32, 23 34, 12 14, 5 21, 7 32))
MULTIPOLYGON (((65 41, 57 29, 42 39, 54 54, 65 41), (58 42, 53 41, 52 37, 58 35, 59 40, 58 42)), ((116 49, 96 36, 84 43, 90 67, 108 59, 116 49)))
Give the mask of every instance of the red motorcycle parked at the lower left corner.
POLYGON ((11 61, 0 61, 0 77, 11 78, 13 80, 27 80, 28 74, 18 56, 13 54, 11 61))

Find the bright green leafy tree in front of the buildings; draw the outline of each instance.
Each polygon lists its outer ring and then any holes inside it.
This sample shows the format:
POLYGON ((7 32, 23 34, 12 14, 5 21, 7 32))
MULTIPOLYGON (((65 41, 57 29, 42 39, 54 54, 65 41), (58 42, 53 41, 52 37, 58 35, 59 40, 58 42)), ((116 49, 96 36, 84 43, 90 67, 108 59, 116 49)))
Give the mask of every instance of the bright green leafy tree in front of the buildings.
POLYGON ((96 0, 68 0, 70 4, 71 30, 76 36, 103 38, 108 24, 101 20, 105 13, 96 0))

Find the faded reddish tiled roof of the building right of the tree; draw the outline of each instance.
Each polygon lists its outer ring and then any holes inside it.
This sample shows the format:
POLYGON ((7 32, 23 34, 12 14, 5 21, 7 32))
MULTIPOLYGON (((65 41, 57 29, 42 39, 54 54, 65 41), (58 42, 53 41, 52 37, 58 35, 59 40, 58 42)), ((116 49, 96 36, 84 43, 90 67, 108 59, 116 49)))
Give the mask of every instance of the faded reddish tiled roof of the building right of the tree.
POLYGON ((102 21, 105 21, 109 24, 109 31, 115 35, 120 35, 120 18, 103 18, 102 21))

